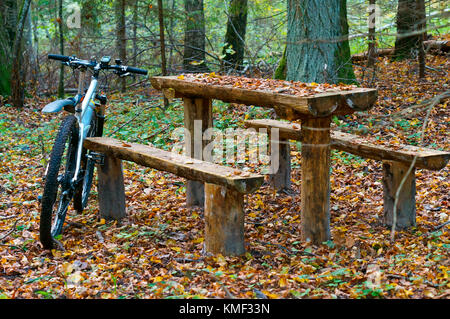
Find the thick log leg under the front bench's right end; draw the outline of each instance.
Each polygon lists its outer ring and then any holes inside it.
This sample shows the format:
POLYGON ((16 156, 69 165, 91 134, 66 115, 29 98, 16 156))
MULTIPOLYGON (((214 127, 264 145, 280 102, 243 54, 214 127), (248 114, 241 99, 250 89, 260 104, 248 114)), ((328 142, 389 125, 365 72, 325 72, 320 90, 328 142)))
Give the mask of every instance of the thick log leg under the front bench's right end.
POLYGON ((205 250, 224 256, 245 252, 243 194, 205 183, 205 250))

